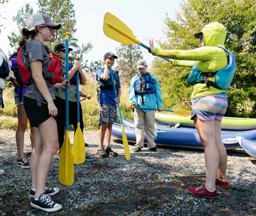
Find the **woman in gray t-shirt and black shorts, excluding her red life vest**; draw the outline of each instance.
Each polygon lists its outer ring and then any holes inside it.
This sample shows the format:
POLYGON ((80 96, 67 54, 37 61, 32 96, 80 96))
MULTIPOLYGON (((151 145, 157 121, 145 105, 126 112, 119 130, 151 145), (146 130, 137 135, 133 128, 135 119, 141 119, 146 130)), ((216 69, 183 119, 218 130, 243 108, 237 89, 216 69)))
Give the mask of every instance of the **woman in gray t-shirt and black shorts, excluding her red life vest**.
POLYGON ((23 38, 28 40, 24 48, 24 58, 28 69, 32 71, 33 82, 24 95, 24 109, 31 126, 35 127, 34 148, 30 157, 30 196, 33 197, 30 204, 46 212, 55 212, 62 205, 54 203, 48 195, 57 194, 59 188, 45 186, 52 158, 59 149, 55 119, 58 110, 55 106, 54 89, 64 89, 69 81, 51 85, 45 80, 43 73, 47 72, 50 59, 49 48, 44 43, 51 40, 53 30, 60 29, 61 24, 52 22, 43 13, 34 13, 27 24, 28 29, 22 30, 23 38))

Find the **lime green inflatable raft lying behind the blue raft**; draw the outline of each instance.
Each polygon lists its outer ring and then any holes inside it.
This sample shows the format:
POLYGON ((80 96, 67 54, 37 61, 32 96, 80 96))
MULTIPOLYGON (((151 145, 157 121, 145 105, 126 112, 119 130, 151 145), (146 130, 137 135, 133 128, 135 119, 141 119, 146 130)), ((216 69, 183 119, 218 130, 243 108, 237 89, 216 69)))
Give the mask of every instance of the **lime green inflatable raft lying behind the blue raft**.
MULTIPOLYGON (((194 127, 194 121, 190 116, 179 116, 174 114, 155 113, 155 120, 159 124, 177 124, 181 126, 194 127)), ((223 117, 222 129, 228 130, 253 130, 256 129, 256 119, 223 117)))

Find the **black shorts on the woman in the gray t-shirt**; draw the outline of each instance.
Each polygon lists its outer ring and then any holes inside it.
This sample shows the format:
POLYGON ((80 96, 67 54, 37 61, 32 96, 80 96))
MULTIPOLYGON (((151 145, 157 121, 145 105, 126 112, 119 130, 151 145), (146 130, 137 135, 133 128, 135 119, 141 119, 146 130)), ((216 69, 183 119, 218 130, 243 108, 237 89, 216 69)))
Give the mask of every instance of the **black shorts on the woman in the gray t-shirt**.
MULTIPOLYGON (((53 103, 55 104, 55 99, 53 100, 53 103)), ((39 124, 51 117, 45 100, 41 100, 41 106, 38 106, 36 99, 24 96, 24 109, 27 114, 30 127, 37 127, 39 124)), ((53 118, 56 120, 56 116, 53 118)))

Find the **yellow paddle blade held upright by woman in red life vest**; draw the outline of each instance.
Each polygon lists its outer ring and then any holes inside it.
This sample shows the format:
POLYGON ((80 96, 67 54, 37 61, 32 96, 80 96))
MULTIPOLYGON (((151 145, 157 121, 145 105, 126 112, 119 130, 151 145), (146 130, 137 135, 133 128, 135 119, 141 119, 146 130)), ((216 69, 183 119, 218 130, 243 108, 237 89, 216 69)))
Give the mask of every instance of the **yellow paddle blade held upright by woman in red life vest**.
POLYGON ((72 185, 74 182, 74 155, 69 141, 69 131, 65 131, 65 139, 61 148, 59 181, 62 185, 72 185))

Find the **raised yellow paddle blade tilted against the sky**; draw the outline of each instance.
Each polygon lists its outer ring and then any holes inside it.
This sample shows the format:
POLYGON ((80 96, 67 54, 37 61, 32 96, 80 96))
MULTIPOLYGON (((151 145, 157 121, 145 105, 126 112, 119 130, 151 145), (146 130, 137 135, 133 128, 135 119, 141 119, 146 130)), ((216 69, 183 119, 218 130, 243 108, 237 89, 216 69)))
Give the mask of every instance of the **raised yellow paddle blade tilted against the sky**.
POLYGON ((129 27, 113 14, 107 12, 104 16, 103 31, 105 35, 123 44, 140 44, 129 27))

